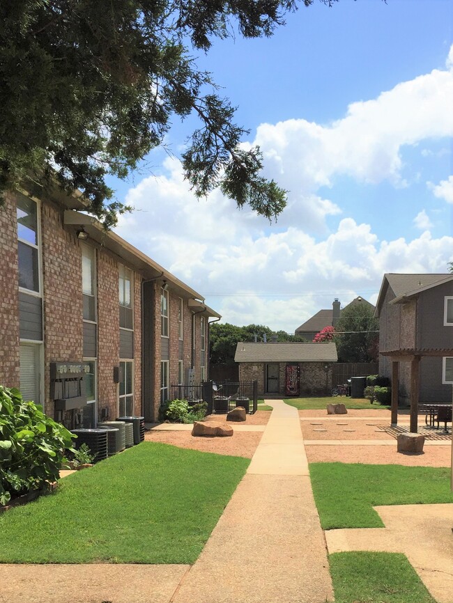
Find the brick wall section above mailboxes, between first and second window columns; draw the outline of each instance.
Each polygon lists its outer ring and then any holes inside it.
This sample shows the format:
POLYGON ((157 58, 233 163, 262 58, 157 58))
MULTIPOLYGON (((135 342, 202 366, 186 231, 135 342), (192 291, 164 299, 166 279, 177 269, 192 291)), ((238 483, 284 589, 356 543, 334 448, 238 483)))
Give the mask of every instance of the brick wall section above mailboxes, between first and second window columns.
POLYGON ((47 203, 42 209, 42 240, 45 409, 53 416, 49 363, 82 360, 82 260, 77 238, 63 228, 63 212, 47 203))

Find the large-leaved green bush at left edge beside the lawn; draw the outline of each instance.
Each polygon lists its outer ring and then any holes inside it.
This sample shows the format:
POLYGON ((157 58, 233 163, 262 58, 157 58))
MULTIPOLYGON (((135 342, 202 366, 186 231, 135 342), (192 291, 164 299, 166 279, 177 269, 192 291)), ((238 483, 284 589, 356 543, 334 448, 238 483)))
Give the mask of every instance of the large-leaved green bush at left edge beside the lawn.
POLYGON ((18 389, 0 386, 0 504, 56 481, 73 437, 18 389))

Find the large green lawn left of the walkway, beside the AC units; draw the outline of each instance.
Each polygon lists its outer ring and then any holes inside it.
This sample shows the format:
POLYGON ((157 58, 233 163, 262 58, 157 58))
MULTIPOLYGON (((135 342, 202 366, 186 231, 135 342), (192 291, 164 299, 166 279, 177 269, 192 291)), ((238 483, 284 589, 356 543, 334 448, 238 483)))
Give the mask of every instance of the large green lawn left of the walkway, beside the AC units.
POLYGON ((0 515, 0 562, 194 563, 248 464, 143 442, 0 515))

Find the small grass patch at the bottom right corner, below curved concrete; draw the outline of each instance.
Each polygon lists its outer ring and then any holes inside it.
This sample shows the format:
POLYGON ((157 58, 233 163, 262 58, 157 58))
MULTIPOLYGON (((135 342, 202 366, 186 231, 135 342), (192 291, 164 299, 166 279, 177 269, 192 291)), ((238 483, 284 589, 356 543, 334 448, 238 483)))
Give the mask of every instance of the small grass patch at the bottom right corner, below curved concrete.
POLYGON ((329 563, 335 603, 436 603, 406 555, 335 553, 329 563))

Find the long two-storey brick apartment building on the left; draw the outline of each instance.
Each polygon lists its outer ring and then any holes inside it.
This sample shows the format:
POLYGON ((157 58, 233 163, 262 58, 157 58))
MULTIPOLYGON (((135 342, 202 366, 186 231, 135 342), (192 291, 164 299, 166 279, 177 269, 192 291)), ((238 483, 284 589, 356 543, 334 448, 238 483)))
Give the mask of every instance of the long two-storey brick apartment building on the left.
POLYGON ((82 213, 77 195, 0 207, 0 384, 68 427, 158 418, 171 385, 208 378, 204 298, 82 213))

